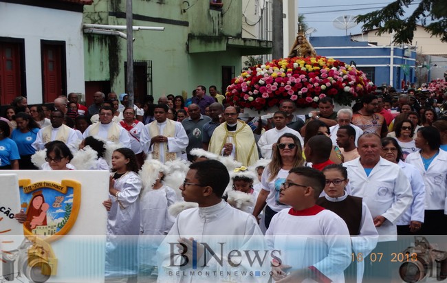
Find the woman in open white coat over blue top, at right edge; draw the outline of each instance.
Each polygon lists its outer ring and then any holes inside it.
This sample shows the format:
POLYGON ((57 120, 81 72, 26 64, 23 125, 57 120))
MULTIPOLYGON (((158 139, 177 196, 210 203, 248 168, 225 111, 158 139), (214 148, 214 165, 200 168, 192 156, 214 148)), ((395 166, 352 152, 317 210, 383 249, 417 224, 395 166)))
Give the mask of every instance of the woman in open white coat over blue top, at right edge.
POLYGON ((425 216, 419 234, 447 234, 447 152, 440 150, 441 136, 433 126, 419 128, 415 139, 419 152, 406 157, 424 178, 425 216))

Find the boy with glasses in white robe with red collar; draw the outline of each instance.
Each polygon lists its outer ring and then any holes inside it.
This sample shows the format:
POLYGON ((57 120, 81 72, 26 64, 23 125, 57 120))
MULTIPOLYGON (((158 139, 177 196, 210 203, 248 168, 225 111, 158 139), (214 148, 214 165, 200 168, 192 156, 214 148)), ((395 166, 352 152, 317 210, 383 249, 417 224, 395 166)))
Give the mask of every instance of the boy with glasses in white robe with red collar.
POLYGON ((268 247, 281 251, 281 260, 272 261, 276 282, 345 282, 349 230, 337 214, 315 204, 323 188, 325 175, 308 167, 292 168, 281 185, 279 201, 292 208, 276 214, 265 232, 268 247))

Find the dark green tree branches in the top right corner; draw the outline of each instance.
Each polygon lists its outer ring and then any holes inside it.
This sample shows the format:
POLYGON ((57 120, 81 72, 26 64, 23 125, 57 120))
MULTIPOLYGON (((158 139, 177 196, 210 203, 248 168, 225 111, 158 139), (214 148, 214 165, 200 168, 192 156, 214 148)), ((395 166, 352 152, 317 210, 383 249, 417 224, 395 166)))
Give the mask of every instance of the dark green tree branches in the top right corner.
POLYGON ((439 36, 447 42, 447 1, 446 0, 395 0, 381 10, 357 17, 357 23, 364 23, 363 30, 378 29, 378 35, 394 34, 394 43, 411 44, 417 25, 432 36, 439 36), (404 7, 417 2, 416 10, 405 17, 404 7))

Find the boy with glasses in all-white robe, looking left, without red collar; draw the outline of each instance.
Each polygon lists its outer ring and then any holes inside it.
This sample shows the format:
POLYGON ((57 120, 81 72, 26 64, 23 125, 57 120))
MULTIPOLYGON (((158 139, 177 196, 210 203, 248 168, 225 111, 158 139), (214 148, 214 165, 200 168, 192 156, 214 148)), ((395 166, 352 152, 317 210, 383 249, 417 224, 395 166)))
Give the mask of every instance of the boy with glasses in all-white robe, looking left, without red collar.
POLYGON ((221 199, 230 177, 219 161, 192 163, 180 188, 184 201, 199 207, 181 212, 157 256, 159 282, 253 282, 268 280, 268 269, 259 276, 250 271, 270 268, 263 236, 254 217, 221 199), (212 251, 215 253, 213 254, 212 251), (260 253, 261 260, 252 251, 260 253), (246 252, 252 258, 247 260, 246 252), (231 256, 228 256, 232 252, 231 256), (236 256, 236 258, 232 258, 236 256), (248 272, 243 275, 242 271, 248 272))

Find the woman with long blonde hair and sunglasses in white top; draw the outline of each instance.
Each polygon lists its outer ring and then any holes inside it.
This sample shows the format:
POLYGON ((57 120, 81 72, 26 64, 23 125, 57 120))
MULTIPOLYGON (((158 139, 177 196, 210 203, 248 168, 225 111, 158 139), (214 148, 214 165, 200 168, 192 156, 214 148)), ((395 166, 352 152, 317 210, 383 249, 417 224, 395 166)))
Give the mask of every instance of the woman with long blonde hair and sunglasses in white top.
POLYGON ((281 210, 290 207, 279 202, 281 183, 285 181, 289 170, 303 166, 301 143, 296 135, 285 133, 279 137, 272 153, 272 161, 261 177, 262 189, 254 206, 253 216, 258 218, 265 207, 265 227, 269 227, 272 217, 281 210))

